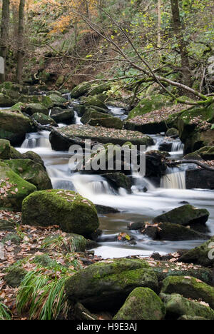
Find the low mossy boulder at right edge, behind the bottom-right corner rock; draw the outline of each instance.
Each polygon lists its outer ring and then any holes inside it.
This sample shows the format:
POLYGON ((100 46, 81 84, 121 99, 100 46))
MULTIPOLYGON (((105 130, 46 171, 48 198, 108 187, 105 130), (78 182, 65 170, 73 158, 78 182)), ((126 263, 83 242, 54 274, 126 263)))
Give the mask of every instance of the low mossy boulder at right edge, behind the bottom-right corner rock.
POLYGON ((168 276, 163 280, 162 293, 179 293, 185 298, 203 300, 214 308, 214 288, 191 276, 168 276))

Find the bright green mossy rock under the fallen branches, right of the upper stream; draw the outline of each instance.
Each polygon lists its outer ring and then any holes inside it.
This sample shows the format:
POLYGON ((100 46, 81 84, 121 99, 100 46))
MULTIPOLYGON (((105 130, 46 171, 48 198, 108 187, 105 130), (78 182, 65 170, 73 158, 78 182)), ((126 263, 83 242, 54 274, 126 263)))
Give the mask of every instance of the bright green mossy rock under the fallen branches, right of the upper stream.
POLYGON ((136 116, 142 116, 145 113, 150 113, 153 110, 160 109, 163 106, 168 106, 169 104, 171 104, 169 98, 161 94, 142 98, 142 100, 138 103, 138 106, 133 108, 128 114, 128 119, 136 116))

